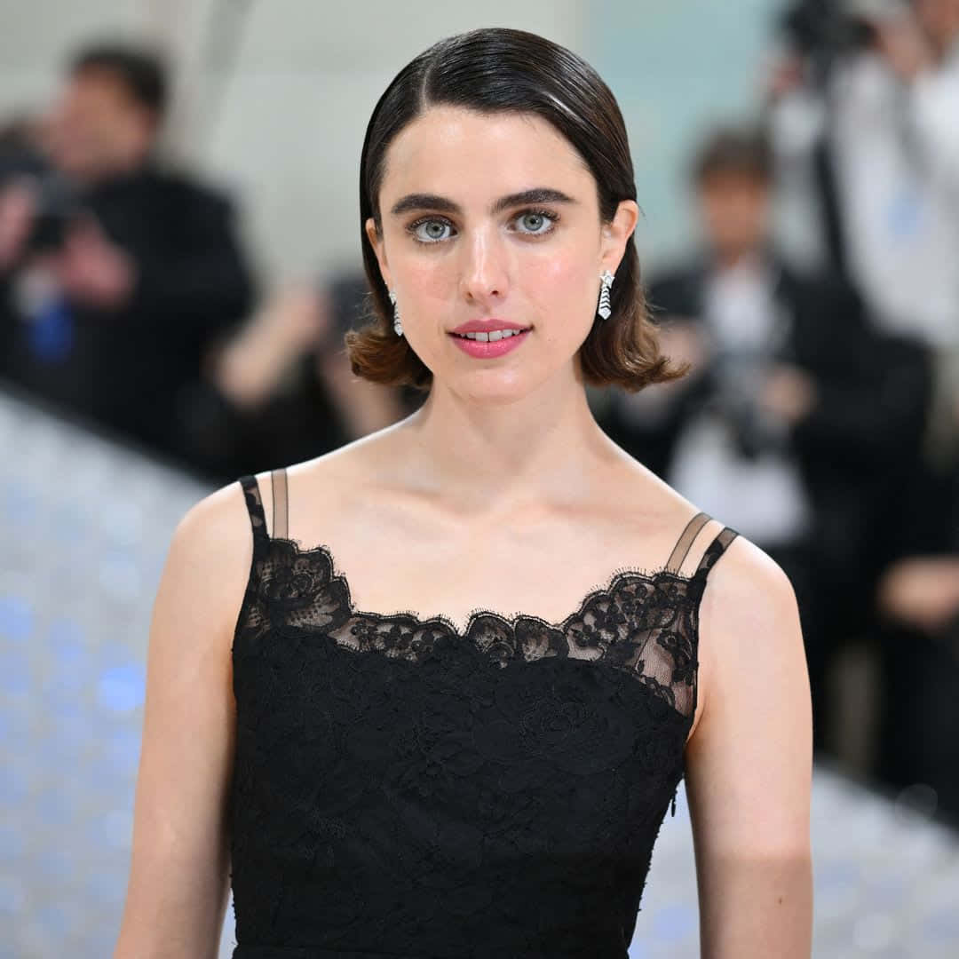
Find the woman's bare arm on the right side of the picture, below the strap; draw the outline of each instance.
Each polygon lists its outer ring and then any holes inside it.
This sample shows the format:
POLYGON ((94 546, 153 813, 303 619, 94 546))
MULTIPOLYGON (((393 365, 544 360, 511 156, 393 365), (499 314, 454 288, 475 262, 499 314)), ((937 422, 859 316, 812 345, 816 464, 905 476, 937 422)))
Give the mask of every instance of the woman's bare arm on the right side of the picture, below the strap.
POLYGON ((792 586, 741 536, 700 610, 687 746, 703 959, 808 959, 812 716, 792 586))

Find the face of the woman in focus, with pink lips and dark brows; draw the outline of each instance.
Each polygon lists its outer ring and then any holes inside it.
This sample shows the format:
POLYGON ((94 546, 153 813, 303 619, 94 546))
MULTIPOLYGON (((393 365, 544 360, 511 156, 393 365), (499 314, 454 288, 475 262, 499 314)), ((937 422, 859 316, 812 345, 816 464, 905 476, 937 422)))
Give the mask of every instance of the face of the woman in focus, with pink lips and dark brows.
POLYGON ((624 200, 600 222, 596 181, 562 134, 532 114, 432 107, 390 144, 379 205, 382 234, 372 220, 366 233, 434 382, 509 402, 576 377, 599 276, 616 272, 638 210, 624 200))

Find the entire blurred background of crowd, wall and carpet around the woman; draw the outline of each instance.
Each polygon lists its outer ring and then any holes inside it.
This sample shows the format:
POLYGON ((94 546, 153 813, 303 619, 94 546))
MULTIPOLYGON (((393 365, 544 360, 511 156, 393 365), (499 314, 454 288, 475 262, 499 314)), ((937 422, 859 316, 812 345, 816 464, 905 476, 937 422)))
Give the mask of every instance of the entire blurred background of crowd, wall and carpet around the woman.
MULTIPOLYGON (((489 25, 587 58, 629 129, 693 370, 591 390, 599 422, 795 586, 815 954, 956 954, 959 0, 518 8, 0 0, 3 959, 112 949, 178 518, 421 402, 342 350, 363 131, 409 58, 489 25)), ((634 959, 697 954, 686 819, 634 959)))

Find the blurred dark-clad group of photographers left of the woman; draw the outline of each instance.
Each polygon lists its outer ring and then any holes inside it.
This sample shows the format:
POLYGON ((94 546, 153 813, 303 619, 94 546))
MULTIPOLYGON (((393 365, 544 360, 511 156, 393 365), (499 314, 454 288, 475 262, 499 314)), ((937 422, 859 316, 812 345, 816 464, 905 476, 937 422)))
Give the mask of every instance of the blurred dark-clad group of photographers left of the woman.
POLYGON ((157 142, 152 51, 92 44, 0 130, 0 376, 209 479, 295 461, 409 405, 351 382, 361 276, 261 297, 222 192, 157 142))

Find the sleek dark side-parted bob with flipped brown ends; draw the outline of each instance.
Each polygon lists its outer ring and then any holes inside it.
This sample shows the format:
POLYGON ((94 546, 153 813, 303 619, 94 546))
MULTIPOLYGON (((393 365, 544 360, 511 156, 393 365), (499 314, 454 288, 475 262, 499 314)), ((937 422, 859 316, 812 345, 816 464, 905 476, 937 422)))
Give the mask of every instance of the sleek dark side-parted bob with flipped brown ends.
MULTIPOLYGON (((572 144, 592 172, 603 222, 613 219, 620 200, 636 199, 620 107, 596 71, 571 51, 525 31, 481 29, 440 40, 411 60, 386 87, 363 140, 360 232, 372 310, 370 321, 349 331, 345 343, 356 375, 423 390, 432 385, 433 374, 407 338, 392 330, 386 284, 363 226, 372 217, 382 232, 379 195, 386 151, 402 129, 433 105, 542 117, 572 144)), ((610 293, 612 316, 595 318, 579 348, 586 383, 635 392, 683 376, 689 364, 673 367, 659 350, 633 237, 610 293)))

